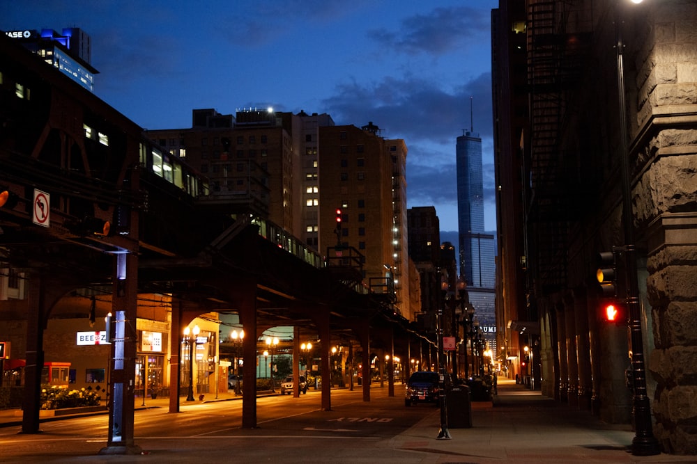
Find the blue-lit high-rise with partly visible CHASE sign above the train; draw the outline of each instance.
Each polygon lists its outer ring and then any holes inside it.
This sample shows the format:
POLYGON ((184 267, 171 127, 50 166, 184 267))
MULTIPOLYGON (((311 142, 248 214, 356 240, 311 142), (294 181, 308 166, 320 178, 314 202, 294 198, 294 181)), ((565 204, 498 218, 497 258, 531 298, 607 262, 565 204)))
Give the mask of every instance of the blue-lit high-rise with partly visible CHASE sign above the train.
POLYGON ((91 38, 82 29, 67 27, 61 33, 53 29, 42 29, 40 32, 24 29, 6 31, 5 34, 41 56, 49 65, 57 67, 73 81, 94 92, 94 75, 98 71, 90 64, 91 38))

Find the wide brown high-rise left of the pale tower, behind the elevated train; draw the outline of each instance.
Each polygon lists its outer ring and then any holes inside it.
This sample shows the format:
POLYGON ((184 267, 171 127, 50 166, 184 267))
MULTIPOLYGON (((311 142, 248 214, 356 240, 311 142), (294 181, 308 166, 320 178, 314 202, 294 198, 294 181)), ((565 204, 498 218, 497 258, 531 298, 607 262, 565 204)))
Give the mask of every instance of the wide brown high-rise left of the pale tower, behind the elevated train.
MULTIPOLYGON (((188 129, 148 130, 164 149, 163 157, 179 156, 210 179, 211 195, 226 205, 248 207, 300 237, 298 150, 292 129, 300 126, 291 113, 245 109, 222 115, 196 109, 188 129)), ((234 212, 234 211, 231 211, 234 212)))

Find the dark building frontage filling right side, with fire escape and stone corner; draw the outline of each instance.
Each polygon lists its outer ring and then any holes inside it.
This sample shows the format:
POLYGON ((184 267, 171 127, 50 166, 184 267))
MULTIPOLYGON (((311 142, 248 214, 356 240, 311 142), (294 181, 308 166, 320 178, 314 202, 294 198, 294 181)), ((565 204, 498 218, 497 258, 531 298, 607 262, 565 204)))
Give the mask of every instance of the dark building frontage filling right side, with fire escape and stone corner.
POLYGON ((633 421, 635 449, 697 454, 697 8, 514 3, 493 13, 499 200, 522 199, 498 211, 501 312, 544 394, 633 421), (600 312, 608 250, 628 326, 600 312))

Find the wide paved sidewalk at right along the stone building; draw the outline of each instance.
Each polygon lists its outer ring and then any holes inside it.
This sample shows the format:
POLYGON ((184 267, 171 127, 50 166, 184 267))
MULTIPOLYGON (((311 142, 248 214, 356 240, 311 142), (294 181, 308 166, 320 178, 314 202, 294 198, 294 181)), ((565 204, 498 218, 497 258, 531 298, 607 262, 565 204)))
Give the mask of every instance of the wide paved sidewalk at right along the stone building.
POLYGON ((471 428, 449 428, 450 440, 437 440, 440 422, 437 410, 392 446, 440 455, 433 462, 443 463, 697 463, 697 456, 633 456, 630 425, 606 424, 506 379, 493 404, 472 403, 471 428))

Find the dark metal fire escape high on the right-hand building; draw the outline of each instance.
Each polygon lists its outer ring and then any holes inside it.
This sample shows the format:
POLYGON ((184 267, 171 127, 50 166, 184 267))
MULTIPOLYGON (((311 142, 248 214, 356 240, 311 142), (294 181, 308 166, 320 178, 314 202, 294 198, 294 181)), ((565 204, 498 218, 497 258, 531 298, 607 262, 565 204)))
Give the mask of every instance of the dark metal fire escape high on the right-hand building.
POLYGON ((530 145, 525 173, 528 291, 549 295, 567 287, 568 236, 574 189, 573 157, 560 148, 568 94, 578 82, 590 33, 583 1, 528 1, 527 47, 530 145), (576 8, 576 9, 574 9, 576 8), (572 21, 569 21, 569 17, 572 21), (569 33, 569 29, 575 29, 569 33))

